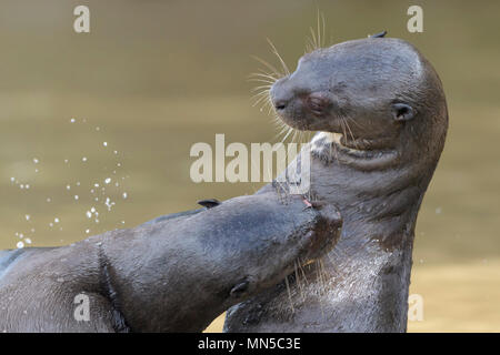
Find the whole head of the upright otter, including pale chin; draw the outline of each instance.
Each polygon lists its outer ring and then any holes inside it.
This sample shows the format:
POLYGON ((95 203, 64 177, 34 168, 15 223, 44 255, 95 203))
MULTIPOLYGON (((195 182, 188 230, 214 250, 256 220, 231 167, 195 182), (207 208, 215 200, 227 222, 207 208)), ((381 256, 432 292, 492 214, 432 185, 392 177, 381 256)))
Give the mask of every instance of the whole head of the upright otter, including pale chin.
POLYGON ((437 161, 448 114, 441 82, 416 48, 368 38, 304 54, 271 88, 281 120, 322 131, 340 160, 364 170, 437 161), (411 145, 411 149, 409 149, 411 145))

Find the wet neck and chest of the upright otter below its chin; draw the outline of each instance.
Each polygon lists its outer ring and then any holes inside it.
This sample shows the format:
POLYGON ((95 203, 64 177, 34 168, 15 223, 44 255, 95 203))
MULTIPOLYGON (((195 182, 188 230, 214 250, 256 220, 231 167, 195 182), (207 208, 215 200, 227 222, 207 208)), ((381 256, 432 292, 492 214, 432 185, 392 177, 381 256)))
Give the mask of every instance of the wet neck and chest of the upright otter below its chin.
POLYGON ((323 262, 329 287, 319 303, 331 320, 313 331, 404 332, 414 225, 431 173, 419 175, 392 152, 351 164, 323 156, 333 150, 322 144, 312 148, 311 193, 337 205, 343 226, 323 262))

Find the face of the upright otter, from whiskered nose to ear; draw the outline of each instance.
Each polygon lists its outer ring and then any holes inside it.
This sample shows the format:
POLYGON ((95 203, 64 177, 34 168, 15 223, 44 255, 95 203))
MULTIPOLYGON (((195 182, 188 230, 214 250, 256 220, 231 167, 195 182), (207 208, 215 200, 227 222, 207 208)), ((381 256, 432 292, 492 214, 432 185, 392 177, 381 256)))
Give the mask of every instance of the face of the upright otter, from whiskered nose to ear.
POLYGON ((392 149, 401 130, 439 101, 432 87, 439 79, 411 44, 368 38, 303 55, 270 97, 294 129, 339 133, 350 149, 392 149))

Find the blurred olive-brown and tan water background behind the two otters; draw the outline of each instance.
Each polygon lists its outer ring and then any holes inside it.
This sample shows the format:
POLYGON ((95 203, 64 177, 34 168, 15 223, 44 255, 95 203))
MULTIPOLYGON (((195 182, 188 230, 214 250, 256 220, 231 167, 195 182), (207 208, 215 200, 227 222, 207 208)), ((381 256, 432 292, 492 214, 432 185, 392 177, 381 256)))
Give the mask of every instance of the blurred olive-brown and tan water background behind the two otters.
MULTIPOLYGON (((303 54, 318 9, 328 43, 388 30, 439 72, 450 129, 417 225, 410 332, 500 331, 498 1, 69 1, 0 3, 0 248, 63 245, 261 184, 191 182, 196 142, 277 142, 248 75, 303 54), (73 9, 90 8, 90 33, 73 9), (423 33, 407 9, 423 9, 423 33)), ((209 331, 220 331, 222 320, 209 331)))

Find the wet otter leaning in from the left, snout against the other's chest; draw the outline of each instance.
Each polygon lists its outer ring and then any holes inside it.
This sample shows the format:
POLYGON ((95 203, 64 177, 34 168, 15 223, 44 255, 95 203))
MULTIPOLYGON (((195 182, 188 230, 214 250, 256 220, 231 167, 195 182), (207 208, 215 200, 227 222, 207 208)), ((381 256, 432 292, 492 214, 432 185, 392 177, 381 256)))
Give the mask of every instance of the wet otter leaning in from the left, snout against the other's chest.
POLYGON ((229 306, 331 250, 331 205, 269 194, 63 247, 0 252, 0 332, 201 332, 229 306), (77 321, 77 295, 89 320, 77 321))

